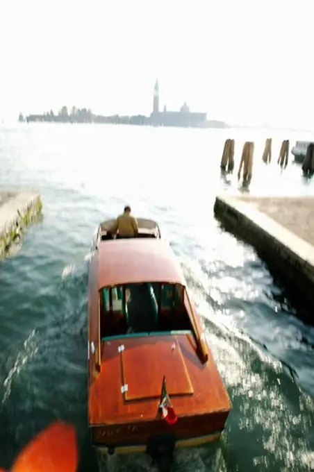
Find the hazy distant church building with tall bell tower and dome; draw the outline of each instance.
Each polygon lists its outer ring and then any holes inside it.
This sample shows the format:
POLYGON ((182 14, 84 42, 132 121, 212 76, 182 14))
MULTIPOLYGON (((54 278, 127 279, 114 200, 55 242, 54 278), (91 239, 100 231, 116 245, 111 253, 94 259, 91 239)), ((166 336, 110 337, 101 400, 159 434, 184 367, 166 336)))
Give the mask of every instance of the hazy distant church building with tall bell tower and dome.
POLYGON ((156 81, 154 87, 154 104, 150 120, 153 126, 180 126, 192 128, 205 128, 207 126, 207 114, 190 112, 190 108, 186 103, 183 103, 179 112, 167 111, 166 106, 164 106, 163 112, 160 112, 158 81, 156 81))

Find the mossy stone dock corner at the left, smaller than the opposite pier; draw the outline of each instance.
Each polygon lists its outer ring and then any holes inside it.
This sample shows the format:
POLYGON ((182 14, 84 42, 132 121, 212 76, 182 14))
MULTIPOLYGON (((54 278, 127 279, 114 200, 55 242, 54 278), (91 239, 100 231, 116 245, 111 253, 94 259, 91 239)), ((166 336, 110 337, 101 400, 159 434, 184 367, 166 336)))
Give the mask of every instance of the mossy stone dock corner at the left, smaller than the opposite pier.
POLYGON ((0 190, 0 258, 10 245, 21 237, 42 210, 39 192, 30 190, 0 190))

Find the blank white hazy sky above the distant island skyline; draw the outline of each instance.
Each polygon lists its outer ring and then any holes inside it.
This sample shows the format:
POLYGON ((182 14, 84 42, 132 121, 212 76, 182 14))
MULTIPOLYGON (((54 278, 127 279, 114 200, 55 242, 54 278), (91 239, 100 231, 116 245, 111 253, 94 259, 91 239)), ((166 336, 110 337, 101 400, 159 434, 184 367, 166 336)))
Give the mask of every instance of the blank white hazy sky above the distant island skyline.
POLYGON ((151 112, 313 126, 314 1, 0 0, 0 117, 151 112))

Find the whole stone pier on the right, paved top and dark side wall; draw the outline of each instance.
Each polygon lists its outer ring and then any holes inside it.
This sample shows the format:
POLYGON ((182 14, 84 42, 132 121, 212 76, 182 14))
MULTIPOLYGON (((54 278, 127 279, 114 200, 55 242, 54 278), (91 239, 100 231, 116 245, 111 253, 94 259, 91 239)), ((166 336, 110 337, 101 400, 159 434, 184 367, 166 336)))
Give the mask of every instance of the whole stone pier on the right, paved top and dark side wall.
POLYGON ((314 307, 314 197, 217 196, 214 212, 314 307))

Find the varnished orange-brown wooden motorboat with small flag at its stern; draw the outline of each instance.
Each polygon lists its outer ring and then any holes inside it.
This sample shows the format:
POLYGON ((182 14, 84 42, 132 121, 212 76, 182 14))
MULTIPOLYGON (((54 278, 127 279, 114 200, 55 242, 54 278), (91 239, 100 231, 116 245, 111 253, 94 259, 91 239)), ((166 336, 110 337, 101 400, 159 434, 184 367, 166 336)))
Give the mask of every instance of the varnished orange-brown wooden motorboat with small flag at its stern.
POLYGON ((90 261, 88 421, 107 453, 195 446, 220 438, 231 402, 175 255, 158 225, 110 239, 90 261))

